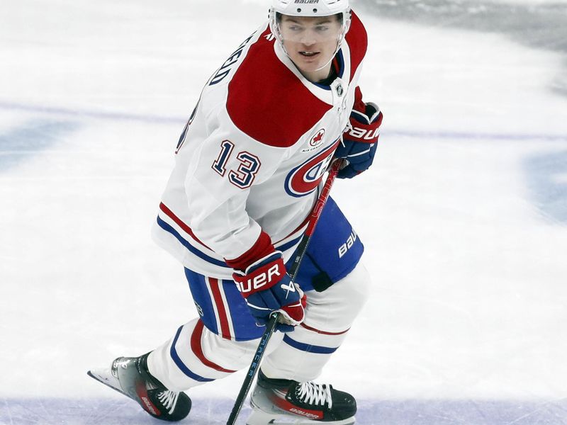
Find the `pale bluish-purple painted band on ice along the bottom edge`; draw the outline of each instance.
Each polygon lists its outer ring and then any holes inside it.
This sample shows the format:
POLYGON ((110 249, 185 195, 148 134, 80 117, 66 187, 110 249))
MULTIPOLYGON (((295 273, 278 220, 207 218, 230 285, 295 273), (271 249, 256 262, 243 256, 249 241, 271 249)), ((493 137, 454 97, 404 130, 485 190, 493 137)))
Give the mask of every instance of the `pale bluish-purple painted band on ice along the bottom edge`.
MULTIPOLYGON (((18 399, 0 407, 1 424, 38 425, 156 425, 128 399, 18 399)), ((180 422, 190 425, 224 425, 232 399, 193 399, 191 413, 180 422)), ((547 425, 564 424, 564 401, 499 402, 494 400, 359 400, 357 424, 364 425, 547 425)), ((237 425, 250 413, 244 407, 237 425)))

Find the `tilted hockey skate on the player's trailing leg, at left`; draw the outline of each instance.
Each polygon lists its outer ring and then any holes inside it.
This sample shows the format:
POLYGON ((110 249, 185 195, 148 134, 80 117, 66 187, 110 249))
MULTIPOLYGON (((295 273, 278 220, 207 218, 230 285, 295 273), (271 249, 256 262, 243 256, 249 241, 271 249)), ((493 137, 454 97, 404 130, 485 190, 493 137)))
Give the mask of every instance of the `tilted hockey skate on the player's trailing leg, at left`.
POLYGON ((184 392, 168 390, 147 371, 147 354, 118 357, 111 368, 92 369, 87 374, 113 390, 121 392, 157 419, 180 421, 191 410, 191 399, 184 392))

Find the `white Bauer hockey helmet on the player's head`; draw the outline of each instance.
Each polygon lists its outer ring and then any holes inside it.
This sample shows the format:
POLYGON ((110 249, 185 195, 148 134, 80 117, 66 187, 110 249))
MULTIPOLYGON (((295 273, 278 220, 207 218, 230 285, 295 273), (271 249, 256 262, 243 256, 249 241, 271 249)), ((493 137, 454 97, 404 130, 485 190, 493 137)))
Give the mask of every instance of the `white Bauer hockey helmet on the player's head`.
MULTIPOLYGON (((351 12, 349 0, 271 0, 269 11, 270 30, 282 47, 283 38, 279 30, 278 13, 287 16, 305 17, 332 16, 342 13, 342 29, 337 38, 335 54, 341 48, 344 36, 347 35, 350 28, 351 12)), ((283 47, 283 50, 286 50, 285 47, 283 47)), ((332 58, 329 62, 331 60, 332 58)))

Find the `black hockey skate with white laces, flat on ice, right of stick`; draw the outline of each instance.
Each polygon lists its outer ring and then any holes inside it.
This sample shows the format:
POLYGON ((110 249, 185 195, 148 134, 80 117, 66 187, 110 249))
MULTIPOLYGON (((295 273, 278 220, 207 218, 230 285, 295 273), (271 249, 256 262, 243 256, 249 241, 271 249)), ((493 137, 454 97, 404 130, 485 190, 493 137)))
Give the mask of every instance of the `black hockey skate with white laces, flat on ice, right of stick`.
POLYGON ((250 402, 247 425, 351 425, 357 413, 354 397, 332 385, 270 379, 262 370, 250 402))

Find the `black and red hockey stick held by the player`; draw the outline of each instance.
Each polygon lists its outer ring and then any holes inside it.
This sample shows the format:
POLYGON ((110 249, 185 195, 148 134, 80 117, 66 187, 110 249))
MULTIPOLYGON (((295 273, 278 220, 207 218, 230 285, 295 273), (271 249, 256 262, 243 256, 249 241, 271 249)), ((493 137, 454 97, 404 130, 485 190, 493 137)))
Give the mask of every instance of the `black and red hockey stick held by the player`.
MULTIPOLYGON (((291 265, 291 268, 288 272, 291 276, 292 282, 296 281, 299 266, 301 266, 303 256, 305 256, 305 252, 307 252, 307 246, 309 245, 309 241, 315 230, 315 225, 317 225, 323 207, 325 206, 325 203, 327 203, 327 198, 329 198, 329 192, 331 191, 332 183, 335 182, 335 178, 337 177, 337 173, 341 169, 343 162, 343 159, 335 159, 332 163, 329 170, 329 175, 327 176, 327 180, 325 180, 325 185, 322 188, 319 198, 317 198, 317 202, 315 203, 315 207, 313 207, 313 211, 311 211, 309 224, 307 225, 307 229, 305 229, 303 237, 301 237, 301 242, 299 242, 299 245, 296 249, 296 258, 293 260, 293 264, 291 265)), ((242 387, 240 387, 240 392, 236 397, 235 405, 234 407, 232 407, 232 412, 230 412, 230 416, 228 417, 226 425, 234 425, 236 422, 238 414, 240 413, 240 409, 242 409, 242 404, 244 404, 248 392, 250 391, 250 387, 252 387, 252 381, 256 377, 258 366, 262 361, 262 357, 264 357, 266 346, 268 345, 271 335, 274 334, 278 319, 278 312, 271 314, 268 324, 266 324, 266 330, 264 331, 264 334, 260 339, 256 353, 254 353, 254 358, 252 358, 252 363, 250 363, 246 378, 244 379, 244 382, 242 382, 242 387)))

